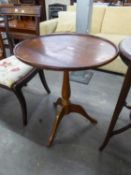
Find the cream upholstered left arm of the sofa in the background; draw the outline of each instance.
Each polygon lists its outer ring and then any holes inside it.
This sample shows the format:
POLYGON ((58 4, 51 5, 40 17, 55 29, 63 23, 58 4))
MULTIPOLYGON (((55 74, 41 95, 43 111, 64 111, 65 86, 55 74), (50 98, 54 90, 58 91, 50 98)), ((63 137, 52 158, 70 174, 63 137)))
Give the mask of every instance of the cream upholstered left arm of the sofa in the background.
POLYGON ((40 35, 54 33, 57 27, 58 18, 40 22, 40 35))

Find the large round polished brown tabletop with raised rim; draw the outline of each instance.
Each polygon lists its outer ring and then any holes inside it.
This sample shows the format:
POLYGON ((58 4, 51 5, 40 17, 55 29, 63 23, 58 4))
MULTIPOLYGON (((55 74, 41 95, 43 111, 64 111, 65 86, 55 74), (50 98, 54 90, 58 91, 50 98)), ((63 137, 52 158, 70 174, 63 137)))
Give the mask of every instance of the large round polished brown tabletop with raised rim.
POLYGON ((54 34, 25 40, 15 56, 35 67, 51 70, 84 70, 112 61, 117 47, 108 40, 83 34, 54 34))

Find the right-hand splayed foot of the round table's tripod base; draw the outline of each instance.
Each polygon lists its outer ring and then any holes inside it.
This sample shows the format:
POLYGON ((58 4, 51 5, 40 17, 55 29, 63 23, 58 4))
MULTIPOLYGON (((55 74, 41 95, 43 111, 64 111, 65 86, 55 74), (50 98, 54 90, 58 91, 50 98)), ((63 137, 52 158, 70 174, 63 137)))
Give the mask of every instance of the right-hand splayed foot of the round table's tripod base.
POLYGON ((97 120, 90 117, 89 114, 84 110, 84 108, 80 105, 76 105, 76 104, 70 104, 70 112, 76 112, 81 114, 83 117, 85 117, 86 119, 88 119, 91 123, 96 124, 97 120))

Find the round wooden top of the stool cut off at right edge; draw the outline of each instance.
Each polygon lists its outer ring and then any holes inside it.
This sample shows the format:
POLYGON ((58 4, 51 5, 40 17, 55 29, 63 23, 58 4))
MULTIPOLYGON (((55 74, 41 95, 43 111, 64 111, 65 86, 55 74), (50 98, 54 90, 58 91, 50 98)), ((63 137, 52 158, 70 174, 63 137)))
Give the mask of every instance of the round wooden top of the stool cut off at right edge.
POLYGON ((125 38, 119 44, 120 56, 127 64, 131 64, 131 37, 125 38))

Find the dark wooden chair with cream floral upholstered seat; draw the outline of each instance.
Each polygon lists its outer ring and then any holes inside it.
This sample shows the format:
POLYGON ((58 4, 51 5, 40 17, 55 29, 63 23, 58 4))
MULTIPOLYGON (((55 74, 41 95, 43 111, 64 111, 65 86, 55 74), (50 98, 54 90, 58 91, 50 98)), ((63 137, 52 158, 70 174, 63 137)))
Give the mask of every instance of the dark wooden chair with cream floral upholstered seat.
POLYGON ((22 87, 25 86, 37 73, 39 73, 41 82, 46 91, 50 93, 50 90, 42 71, 22 63, 14 55, 3 59, 5 53, 3 46, 3 40, 0 33, 0 87, 14 92, 21 106, 23 124, 26 125, 27 107, 22 93, 22 87))

